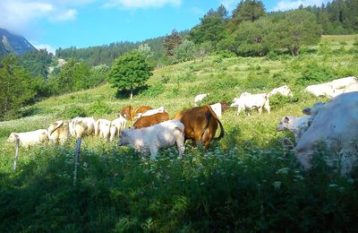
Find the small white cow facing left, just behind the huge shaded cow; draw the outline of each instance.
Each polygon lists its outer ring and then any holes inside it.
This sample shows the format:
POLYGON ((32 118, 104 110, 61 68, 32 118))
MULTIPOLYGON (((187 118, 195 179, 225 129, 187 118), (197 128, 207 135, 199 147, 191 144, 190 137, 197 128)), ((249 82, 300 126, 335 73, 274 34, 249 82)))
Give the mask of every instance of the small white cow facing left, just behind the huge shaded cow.
POLYGON ((308 128, 309 118, 310 116, 285 116, 279 122, 279 125, 277 126, 277 132, 287 129, 294 134, 294 140, 298 142, 300 141, 303 133, 306 132, 308 128))

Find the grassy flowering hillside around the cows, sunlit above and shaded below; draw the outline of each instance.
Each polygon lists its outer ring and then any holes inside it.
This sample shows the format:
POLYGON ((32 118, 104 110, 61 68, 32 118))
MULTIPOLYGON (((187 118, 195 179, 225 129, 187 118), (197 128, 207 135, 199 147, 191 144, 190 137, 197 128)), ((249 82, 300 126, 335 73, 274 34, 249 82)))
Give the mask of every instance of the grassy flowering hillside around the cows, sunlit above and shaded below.
MULTIPOLYGON (((311 172, 303 172, 289 152, 283 157, 277 123, 283 116, 302 116, 318 100, 305 85, 347 75, 358 76, 352 39, 337 45, 304 48, 299 57, 209 56, 154 72, 148 88, 129 100, 115 97, 109 85, 50 98, 23 109, 19 120, 0 123, 1 231, 215 231, 358 229, 356 176, 338 176, 319 151, 311 172), (75 142, 21 149, 13 172, 11 132, 47 128, 56 119, 88 116, 114 119, 124 106, 165 106, 170 116, 204 103, 231 102, 243 91, 259 93, 288 84, 293 98, 270 99, 272 113, 222 117, 225 137, 209 151, 186 144, 160 151, 158 161, 141 158, 115 142, 85 138, 78 186, 72 186, 75 142)), ((333 42, 332 42, 333 41, 333 42)), ((130 124, 131 125, 131 124, 130 124)), ((356 172, 354 173, 356 174, 356 172)))

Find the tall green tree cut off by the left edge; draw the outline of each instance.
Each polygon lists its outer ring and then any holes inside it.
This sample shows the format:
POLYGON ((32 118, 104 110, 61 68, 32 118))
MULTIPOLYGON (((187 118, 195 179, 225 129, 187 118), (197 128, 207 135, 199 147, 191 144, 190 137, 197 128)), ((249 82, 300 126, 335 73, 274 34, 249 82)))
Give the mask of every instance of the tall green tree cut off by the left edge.
POLYGON ((0 119, 13 118, 19 108, 33 99, 31 75, 21 67, 13 55, 0 62, 0 119))

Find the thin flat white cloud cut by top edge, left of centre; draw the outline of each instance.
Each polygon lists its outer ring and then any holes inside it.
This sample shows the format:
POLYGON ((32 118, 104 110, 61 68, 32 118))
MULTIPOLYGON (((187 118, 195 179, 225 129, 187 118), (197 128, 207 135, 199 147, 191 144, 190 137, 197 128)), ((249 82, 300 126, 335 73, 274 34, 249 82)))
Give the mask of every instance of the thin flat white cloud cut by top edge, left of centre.
POLYGON ((161 7, 166 4, 180 5, 182 0, 109 0, 105 7, 124 7, 124 8, 147 8, 161 7))

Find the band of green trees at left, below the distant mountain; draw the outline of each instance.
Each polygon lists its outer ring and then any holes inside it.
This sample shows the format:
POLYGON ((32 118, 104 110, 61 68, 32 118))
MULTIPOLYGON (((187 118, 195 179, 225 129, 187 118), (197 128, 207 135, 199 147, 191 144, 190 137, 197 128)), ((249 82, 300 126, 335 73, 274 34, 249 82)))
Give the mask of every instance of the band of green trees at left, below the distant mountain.
POLYGON ((41 54, 47 60, 43 51, 27 55, 26 59, 7 55, 0 60, 0 121, 20 117, 21 107, 40 99, 89 89, 107 80, 107 65, 91 67, 76 58, 68 59, 58 73, 43 76, 42 72, 46 74, 46 69, 37 65, 41 54), (30 57, 34 57, 32 64, 30 57))

